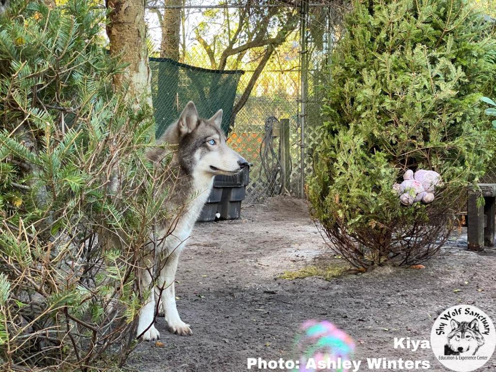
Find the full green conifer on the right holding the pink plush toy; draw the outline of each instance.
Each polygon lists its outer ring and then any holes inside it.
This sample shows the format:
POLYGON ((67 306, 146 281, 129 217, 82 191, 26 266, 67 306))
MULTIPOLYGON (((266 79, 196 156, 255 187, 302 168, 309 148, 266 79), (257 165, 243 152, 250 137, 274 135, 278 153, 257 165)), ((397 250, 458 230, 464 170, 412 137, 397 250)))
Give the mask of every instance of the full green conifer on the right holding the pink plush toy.
POLYGON ((353 2, 333 53, 308 194, 313 216, 355 266, 429 258, 451 227, 443 216, 483 174, 489 130, 479 98, 495 76, 491 27, 465 0, 353 2), (441 174, 432 204, 400 204, 392 186, 407 169, 441 174))

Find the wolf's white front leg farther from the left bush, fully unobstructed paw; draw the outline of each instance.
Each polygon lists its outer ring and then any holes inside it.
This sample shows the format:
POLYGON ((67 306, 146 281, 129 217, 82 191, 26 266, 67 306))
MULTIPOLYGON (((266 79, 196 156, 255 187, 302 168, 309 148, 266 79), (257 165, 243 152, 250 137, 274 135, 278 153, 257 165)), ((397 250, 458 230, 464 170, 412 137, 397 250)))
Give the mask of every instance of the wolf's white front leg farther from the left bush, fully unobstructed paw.
POLYGON ((173 252, 160 262, 160 277, 158 286, 155 289, 160 298, 165 321, 169 331, 182 336, 193 334, 189 324, 181 320, 176 308, 176 293, 174 289, 174 279, 178 268, 179 251, 173 252))

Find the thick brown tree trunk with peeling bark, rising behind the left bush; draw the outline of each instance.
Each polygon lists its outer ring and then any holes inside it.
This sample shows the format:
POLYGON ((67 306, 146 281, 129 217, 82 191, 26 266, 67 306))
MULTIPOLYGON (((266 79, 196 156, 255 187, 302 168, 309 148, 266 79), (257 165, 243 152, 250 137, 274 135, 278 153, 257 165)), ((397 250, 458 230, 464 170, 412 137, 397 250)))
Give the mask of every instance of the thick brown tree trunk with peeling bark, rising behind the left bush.
POLYGON ((112 9, 107 26, 110 54, 129 63, 124 74, 114 78, 114 86, 120 87, 127 79, 130 96, 138 99, 145 94, 145 100, 151 105, 145 0, 106 0, 106 6, 112 9))

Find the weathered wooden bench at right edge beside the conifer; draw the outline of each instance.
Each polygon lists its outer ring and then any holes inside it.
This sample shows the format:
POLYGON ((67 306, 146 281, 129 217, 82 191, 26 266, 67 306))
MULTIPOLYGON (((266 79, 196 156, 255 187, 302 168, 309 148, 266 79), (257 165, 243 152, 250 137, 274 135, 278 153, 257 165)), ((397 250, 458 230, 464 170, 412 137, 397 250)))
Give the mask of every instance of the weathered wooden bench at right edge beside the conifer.
POLYGON ((469 250, 482 250, 495 245, 496 184, 478 184, 481 191, 468 191, 467 239, 469 250), (484 205, 477 199, 484 197, 484 205))

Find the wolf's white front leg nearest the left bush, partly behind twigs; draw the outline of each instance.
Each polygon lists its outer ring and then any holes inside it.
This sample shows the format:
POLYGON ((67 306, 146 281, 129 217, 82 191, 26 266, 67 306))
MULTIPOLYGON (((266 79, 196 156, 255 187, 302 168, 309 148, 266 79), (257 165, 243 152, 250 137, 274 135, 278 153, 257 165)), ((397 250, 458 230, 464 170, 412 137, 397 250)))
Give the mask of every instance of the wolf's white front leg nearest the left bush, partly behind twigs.
POLYGON ((155 295, 153 294, 152 272, 153 263, 151 260, 145 260, 143 267, 140 269, 139 289, 142 294, 148 292, 147 299, 141 310, 139 311, 138 329, 136 337, 141 335, 141 339, 145 341, 158 340, 160 333, 154 326, 155 315, 155 295))

